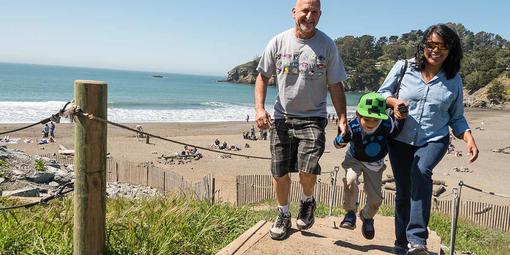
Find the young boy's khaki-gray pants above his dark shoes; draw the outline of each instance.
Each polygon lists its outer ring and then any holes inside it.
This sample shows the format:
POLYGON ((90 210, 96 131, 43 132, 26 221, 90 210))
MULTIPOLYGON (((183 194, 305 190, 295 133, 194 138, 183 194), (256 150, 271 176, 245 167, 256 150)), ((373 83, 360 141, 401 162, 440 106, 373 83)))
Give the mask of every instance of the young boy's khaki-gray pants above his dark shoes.
POLYGON ((342 167, 345 169, 345 178, 343 193, 344 199, 342 206, 346 211, 354 211, 357 209, 359 194, 359 176, 363 173, 363 189, 367 196, 367 202, 361 213, 366 219, 374 218, 377 210, 382 204, 382 173, 386 169, 383 165, 378 172, 368 169, 361 161, 346 153, 342 167))

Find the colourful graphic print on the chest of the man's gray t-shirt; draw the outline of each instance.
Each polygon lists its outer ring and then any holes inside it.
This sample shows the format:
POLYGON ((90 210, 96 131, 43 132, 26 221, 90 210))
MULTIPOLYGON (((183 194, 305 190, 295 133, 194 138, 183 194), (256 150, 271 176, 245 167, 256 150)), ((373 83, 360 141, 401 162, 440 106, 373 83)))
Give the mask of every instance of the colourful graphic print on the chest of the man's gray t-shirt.
POLYGON ((326 57, 322 55, 305 52, 276 54, 278 75, 300 75, 307 80, 315 80, 325 74, 326 67, 326 57))

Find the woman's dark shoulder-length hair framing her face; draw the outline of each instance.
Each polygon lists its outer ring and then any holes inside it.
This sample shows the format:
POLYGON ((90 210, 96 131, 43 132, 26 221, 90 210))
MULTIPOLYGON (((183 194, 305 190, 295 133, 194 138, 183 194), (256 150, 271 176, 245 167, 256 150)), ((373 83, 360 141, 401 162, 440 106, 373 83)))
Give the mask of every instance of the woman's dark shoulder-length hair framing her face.
POLYGON ((416 59, 416 68, 423 70, 427 64, 424 51, 427 47, 427 40, 429 40, 433 33, 441 36, 444 44, 448 47, 448 57, 443 62, 442 69, 446 73, 446 78, 448 80, 452 79, 460 70, 460 61, 463 57, 462 45, 460 44, 459 35, 444 24, 432 25, 423 33, 423 38, 418 44, 416 54, 414 55, 416 59))

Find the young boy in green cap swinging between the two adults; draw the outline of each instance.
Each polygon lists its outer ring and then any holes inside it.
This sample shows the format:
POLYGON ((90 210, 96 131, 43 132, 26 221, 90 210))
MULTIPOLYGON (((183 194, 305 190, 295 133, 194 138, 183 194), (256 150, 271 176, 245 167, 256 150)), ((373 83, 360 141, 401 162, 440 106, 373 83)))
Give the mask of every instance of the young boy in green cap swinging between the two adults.
MULTIPOLYGON (((342 167, 345 169, 343 208, 347 211, 340 223, 343 228, 356 228, 359 176, 363 173, 367 202, 359 212, 363 223, 361 233, 366 239, 375 236, 374 216, 382 203, 382 173, 386 169, 384 157, 388 154, 387 141, 398 135, 404 120, 396 120, 385 112, 386 101, 377 93, 361 97, 356 118, 349 121, 345 137, 338 135, 334 144, 342 148, 349 143, 342 167)), ((339 130, 340 134, 340 130, 339 130)))

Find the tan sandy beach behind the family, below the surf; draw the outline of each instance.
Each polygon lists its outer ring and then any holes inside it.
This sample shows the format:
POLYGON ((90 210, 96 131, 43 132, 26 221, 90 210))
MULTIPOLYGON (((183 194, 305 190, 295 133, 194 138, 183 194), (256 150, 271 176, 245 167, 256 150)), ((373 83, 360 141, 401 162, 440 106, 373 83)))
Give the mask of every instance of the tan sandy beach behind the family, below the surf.
MULTIPOLYGON (((441 163, 434 169, 434 179, 444 180, 447 184, 447 192, 451 193, 453 187, 459 181, 487 191, 502 194, 510 194, 510 154, 495 153, 493 149, 504 148, 510 145, 510 131, 508 120, 510 112, 495 110, 469 109, 466 117, 473 130, 474 137, 480 149, 479 159, 472 164, 468 163, 465 153, 465 144, 461 140, 455 140, 453 144, 456 150, 462 151, 462 156, 447 154, 441 163), (482 124, 483 123, 483 124, 482 124), (480 130, 483 129, 483 130, 480 130), (455 171, 454 168, 469 171, 455 171)), ((136 124, 127 124, 135 127, 136 124)), ((269 141, 250 141, 242 137, 243 131, 249 131, 254 122, 214 122, 214 123, 142 123, 145 132, 171 138, 181 142, 208 147, 218 138, 221 142, 239 145, 242 150, 237 153, 270 157, 269 141), (249 148, 245 148, 245 144, 249 148)), ((0 124, 0 132, 24 126, 23 124, 0 124)), ((15 134, 11 138, 21 138, 17 144, 9 144, 9 148, 16 148, 28 154, 56 153, 58 145, 62 144, 72 149, 74 143, 73 124, 57 124, 56 143, 39 145, 37 143, 23 143, 26 138, 40 138, 42 126, 32 127, 15 134)), ((327 127, 326 152, 321 158, 321 166, 324 172, 331 171, 339 166, 343 159, 345 149, 335 149, 332 140, 336 135, 336 127, 330 123, 327 127)), ((257 132, 258 136, 258 132, 257 132)), ((172 170, 189 181, 197 181, 203 176, 212 173, 216 177, 217 187, 220 189, 223 201, 235 201, 235 177, 236 175, 270 174, 269 160, 247 159, 244 157, 221 158, 220 154, 199 150, 203 158, 191 163, 181 165, 158 165, 157 158, 161 154, 174 154, 183 150, 182 145, 167 141, 151 139, 150 144, 145 139, 138 141, 135 134, 128 130, 117 127, 108 127, 108 152, 117 161, 128 160, 132 162, 152 161, 157 166, 172 170)), ((508 151, 508 150, 507 150, 508 151)), ((389 162, 387 162, 389 165, 389 162)), ((391 173, 390 167, 385 174, 391 173)), ((329 180, 329 174, 321 176, 323 181, 329 180)), ((483 201, 495 204, 508 205, 510 199, 490 196, 478 193, 467 188, 462 190, 462 198, 472 201, 483 201)))

